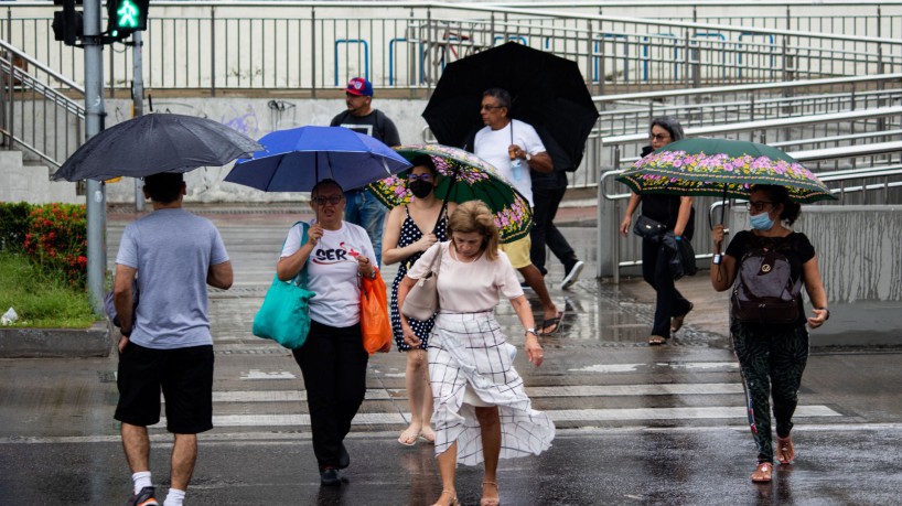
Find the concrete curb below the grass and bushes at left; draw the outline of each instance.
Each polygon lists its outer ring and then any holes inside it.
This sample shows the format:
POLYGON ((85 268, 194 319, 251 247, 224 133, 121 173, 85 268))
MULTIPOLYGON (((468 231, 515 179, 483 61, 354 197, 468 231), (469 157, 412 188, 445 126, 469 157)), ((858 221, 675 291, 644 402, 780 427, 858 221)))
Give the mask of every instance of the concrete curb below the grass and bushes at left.
POLYGON ((84 358, 109 356, 106 320, 89 329, 0 327, 0 358, 84 358))

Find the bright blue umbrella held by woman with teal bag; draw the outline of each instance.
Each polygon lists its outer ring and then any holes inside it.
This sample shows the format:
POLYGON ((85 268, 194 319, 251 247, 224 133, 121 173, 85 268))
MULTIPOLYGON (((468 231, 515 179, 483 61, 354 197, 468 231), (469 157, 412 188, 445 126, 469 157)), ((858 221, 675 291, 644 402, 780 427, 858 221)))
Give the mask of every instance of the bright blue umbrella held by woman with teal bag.
POLYGON ((344 127, 277 130, 260 143, 265 149, 236 162, 225 181, 265 192, 309 192, 332 179, 352 190, 410 168, 391 148, 344 127))

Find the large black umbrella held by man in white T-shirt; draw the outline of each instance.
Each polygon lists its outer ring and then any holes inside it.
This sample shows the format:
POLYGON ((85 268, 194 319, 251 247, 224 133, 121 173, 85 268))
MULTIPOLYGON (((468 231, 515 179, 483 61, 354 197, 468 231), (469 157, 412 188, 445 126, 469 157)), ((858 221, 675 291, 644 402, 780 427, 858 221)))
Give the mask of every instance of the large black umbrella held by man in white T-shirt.
POLYGON ((473 151, 488 88, 511 93, 511 116, 536 129, 555 169, 579 165, 599 114, 575 62, 508 42, 449 64, 422 112, 439 142, 473 151))

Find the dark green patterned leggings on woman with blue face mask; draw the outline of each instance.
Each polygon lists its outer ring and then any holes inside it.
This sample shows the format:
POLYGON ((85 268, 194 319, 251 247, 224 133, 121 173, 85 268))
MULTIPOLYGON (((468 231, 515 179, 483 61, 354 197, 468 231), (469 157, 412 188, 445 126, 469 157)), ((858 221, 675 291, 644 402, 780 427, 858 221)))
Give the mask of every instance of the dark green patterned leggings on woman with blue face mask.
POLYGON ((770 399, 774 399, 776 435, 785 438, 793 428, 798 386, 808 360, 808 331, 804 325, 780 327, 733 321, 730 334, 742 373, 758 461, 773 462, 770 399))

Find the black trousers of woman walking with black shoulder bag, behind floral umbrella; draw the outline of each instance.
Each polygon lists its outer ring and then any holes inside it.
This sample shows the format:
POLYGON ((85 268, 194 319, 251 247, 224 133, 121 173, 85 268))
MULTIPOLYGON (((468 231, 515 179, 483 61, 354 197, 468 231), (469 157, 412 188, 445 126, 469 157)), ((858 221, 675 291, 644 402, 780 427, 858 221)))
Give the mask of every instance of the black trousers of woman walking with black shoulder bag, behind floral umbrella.
POLYGON ((679 293, 670 274, 667 247, 642 239, 642 278, 655 289, 655 323, 652 335, 670 338, 670 319, 689 312, 689 301, 679 293))

